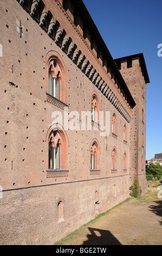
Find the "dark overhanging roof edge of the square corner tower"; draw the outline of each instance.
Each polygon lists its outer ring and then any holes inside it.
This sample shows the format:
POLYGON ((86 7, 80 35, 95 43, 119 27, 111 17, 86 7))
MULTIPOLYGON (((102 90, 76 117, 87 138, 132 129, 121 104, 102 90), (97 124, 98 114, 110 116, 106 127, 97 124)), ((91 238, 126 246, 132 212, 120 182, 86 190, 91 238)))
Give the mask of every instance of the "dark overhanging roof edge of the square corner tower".
POLYGON ((147 72, 146 63, 145 63, 145 59, 144 59, 144 54, 143 53, 137 53, 137 54, 129 55, 129 56, 118 58, 118 59, 114 59, 114 60, 117 61, 117 60, 123 60, 123 59, 128 59, 128 58, 137 58, 137 57, 139 57, 140 64, 141 64, 141 69, 142 69, 142 71, 144 73, 145 81, 146 81, 146 83, 150 83, 150 79, 148 77, 148 72, 147 72))

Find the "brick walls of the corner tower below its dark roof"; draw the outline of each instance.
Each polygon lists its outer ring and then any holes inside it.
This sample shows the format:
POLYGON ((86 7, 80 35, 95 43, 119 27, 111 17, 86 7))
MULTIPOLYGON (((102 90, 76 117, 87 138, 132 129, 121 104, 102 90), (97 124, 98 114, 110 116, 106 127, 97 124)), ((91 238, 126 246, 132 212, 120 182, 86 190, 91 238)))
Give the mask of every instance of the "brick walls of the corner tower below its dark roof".
POLYGON ((135 100, 136 106, 133 109, 131 130, 129 132, 129 171, 132 175, 138 175, 139 185, 142 194, 147 191, 146 184, 146 82, 142 75, 139 57, 132 59, 132 67, 127 68, 127 59, 121 62, 121 74, 135 100), (142 87, 144 95, 142 95, 142 87), (142 109, 144 109, 144 121, 142 121, 142 109), (142 133, 144 145, 142 145, 142 133), (144 156, 144 168, 142 168, 142 156, 144 156), (133 160, 133 161, 132 161, 133 160))

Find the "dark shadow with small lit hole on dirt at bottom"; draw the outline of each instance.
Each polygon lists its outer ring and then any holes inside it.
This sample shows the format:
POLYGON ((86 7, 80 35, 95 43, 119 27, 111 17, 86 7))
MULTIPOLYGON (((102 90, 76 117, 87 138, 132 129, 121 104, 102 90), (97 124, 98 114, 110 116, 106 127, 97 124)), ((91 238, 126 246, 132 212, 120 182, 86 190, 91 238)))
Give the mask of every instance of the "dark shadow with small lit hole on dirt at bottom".
POLYGON ((88 240, 82 245, 121 245, 121 243, 108 230, 88 228, 90 235, 87 235, 88 240))

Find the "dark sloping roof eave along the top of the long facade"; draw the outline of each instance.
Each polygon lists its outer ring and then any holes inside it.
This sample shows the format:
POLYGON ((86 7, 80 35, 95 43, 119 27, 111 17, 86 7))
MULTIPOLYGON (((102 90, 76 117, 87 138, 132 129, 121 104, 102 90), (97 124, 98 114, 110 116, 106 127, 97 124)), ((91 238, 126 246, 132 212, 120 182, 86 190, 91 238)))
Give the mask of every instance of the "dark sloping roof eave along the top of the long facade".
POLYGON ((118 81, 121 84, 122 88, 124 89, 125 93, 127 94, 129 101, 132 104, 132 107, 134 107, 136 104, 132 97, 132 94, 129 92, 129 89, 124 81, 124 78, 122 77, 122 75, 118 69, 118 66, 116 66, 116 63, 115 63, 113 57, 111 56, 111 53, 109 52, 105 42, 103 41, 102 36, 101 36, 100 32, 98 31, 98 28, 96 27, 92 17, 90 16, 90 14, 86 8, 86 5, 83 3, 82 0, 72 0, 72 3, 75 7, 75 10, 80 14, 81 19, 86 24, 86 27, 87 27, 88 31, 90 32, 92 38, 94 38, 96 44, 100 47, 100 50, 101 50, 104 58, 106 58, 108 65, 111 66, 112 71, 118 78, 118 81))

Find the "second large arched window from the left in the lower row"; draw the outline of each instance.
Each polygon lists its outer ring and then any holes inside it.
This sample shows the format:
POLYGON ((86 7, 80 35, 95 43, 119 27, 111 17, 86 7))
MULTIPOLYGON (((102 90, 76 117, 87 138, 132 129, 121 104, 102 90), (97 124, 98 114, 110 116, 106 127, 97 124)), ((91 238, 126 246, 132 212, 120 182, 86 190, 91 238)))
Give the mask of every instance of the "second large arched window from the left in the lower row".
POLYGON ((90 169, 99 169, 99 144, 96 140, 90 144, 90 169))

